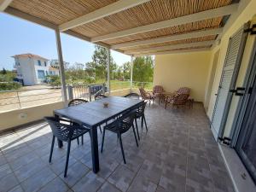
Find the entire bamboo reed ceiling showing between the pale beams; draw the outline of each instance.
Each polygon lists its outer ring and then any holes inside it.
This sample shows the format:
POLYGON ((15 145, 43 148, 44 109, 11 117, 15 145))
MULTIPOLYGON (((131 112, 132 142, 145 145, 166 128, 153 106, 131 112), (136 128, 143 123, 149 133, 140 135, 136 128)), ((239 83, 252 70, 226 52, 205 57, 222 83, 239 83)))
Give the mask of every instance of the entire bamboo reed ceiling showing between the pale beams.
MULTIPOLYGON (((78 18, 108 6, 118 0, 13 0, 9 7, 18 9, 29 15, 47 20, 55 25, 61 25, 69 20, 78 18)), ((125 9, 102 19, 94 20, 81 26, 72 28, 84 37, 95 38, 112 32, 120 32, 137 26, 145 26, 163 20, 170 20, 183 15, 191 15, 208 9, 223 7, 232 3, 232 0, 151 0, 130 9, 125 9)), ((223 17, 209 20, 199 20, 179 26, 166 27, 150 32, 141 32, 122 38, 112 38, 103 41, 105 44, 121 44, 140 40, 170 37, 172 35, 196 32, 218 28, 223 25, 223 17)), ((171 44, 189 44, 201 41, 214 40, 216 35, 189 38, 161 44, 139 45, 119 50, 143 49, 171 44)))

